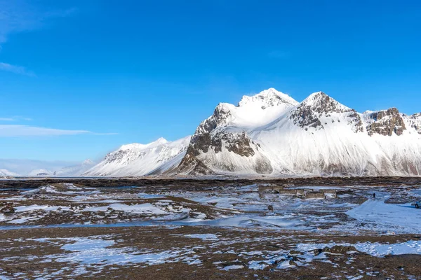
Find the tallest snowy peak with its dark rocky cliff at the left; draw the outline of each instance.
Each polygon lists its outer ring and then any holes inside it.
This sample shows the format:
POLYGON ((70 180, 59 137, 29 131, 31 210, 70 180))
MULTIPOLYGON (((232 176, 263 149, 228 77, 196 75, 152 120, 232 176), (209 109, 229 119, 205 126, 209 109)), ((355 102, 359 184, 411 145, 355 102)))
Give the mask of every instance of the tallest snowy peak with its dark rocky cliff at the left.
POLYGON ((273 88, 244 96, 237 106, 219 104, 197 127, 178 172, 271 174, 269 158, 248 132, 272 123, 297 105, 293 98, 273 88))

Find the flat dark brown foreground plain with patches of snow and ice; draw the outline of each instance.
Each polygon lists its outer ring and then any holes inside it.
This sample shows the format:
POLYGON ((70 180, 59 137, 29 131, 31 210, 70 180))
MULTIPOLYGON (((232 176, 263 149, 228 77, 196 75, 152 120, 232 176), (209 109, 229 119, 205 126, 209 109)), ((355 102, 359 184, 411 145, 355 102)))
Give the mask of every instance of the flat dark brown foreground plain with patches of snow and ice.
POLYGON ((419 186, 267 187, 3 188, 0 279, 420 279, 419 186))

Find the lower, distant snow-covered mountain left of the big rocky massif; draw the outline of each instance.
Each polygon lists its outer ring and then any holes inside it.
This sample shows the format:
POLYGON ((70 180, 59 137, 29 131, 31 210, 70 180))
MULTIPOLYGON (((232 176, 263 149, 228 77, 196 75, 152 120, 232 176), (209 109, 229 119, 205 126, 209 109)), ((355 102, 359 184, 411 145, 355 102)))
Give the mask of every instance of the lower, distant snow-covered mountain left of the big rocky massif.
POLYGON ((168 142, 160 138, 149 144, 128 144, 109 153, 83 176, 144 176, 161 174, 177 167, 190 137, 168 142))

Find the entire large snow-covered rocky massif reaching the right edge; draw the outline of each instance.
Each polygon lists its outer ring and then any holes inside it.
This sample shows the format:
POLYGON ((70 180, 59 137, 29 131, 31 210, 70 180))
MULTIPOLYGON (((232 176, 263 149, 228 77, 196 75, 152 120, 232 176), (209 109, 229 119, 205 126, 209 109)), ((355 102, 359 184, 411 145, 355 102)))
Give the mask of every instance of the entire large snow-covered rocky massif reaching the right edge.
POLYGON ((421 114, 358 113, 323 92, 296 102, 273 88, 219 104, 177 174, 420 175, 421 114))

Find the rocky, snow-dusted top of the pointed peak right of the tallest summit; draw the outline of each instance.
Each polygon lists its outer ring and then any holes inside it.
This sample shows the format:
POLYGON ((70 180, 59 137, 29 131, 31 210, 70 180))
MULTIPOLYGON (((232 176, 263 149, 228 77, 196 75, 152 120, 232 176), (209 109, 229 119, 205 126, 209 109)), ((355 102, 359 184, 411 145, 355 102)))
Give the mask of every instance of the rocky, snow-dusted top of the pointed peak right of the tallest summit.
POLYGON ((290 119, 295 125, 308 130, 314 127, 316 130, 323 130, 328 123, 340 122, 340 118, 335 118, 340 114, 347 123, 352 126, 354 132, 363 132, 363 122, 359 113, 354 109, 349 109, 338 103, 323 92, 316 92, 302 102, 297 109, 290 114, 290 119), (335 116, 333 116, 335 115, 335 116), (322 120, 323 119, 323 120, 322 120), (327 121, 326 119, 329 119, 327 121))

